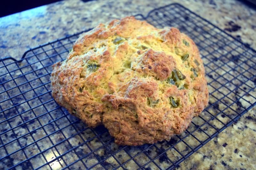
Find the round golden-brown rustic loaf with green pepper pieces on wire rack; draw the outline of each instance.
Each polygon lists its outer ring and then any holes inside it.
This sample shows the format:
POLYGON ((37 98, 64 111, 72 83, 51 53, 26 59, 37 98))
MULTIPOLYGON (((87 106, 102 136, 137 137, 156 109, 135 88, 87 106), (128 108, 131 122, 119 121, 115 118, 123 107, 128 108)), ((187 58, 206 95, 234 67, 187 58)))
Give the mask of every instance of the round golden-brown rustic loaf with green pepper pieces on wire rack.
POLYGON ((53 64, 52 96, 88 126, 103 124, 115 142, 169 140, 208 103, 195 43, 177 28, 126 17, 81 35, 53 64))

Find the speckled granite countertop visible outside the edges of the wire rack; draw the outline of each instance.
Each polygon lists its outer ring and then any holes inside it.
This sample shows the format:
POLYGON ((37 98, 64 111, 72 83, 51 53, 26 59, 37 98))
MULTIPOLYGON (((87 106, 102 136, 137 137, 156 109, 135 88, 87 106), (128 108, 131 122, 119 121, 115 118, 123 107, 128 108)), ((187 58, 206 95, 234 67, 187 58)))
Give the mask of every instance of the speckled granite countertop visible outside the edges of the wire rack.
MULTIPOLYGON (((0 18, 0 58, 19 59, 29 48, 71 35, 113 18, 178 2, 256 49, 256 11, 240 1, 172 0, 61 1, 0 18)), ((255 83, 255 82, 254 82, 255 83)), ((255 91, 254 91, 255 94, 255 91)), ((256 167, 256 108, 223 130, 177 169, 253 169, 256 167)))

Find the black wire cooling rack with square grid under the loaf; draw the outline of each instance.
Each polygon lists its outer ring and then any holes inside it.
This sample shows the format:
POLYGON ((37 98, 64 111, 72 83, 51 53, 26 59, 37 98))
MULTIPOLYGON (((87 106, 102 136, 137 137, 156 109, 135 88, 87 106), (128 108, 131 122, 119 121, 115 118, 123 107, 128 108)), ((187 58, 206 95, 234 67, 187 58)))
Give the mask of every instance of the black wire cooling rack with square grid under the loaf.
MULTIPOLYGON (((0 60, 0 169, 171 169, 256 105, 255 51, 180 4, 137 15, 174 26, 200 49, 210 102, 170 141, 118 146, 103 126, 69 115, 51 96, 52 63, 63 60, 80 33, 0 60)), ((88 31, 88 30, 87 30, 88 31)))

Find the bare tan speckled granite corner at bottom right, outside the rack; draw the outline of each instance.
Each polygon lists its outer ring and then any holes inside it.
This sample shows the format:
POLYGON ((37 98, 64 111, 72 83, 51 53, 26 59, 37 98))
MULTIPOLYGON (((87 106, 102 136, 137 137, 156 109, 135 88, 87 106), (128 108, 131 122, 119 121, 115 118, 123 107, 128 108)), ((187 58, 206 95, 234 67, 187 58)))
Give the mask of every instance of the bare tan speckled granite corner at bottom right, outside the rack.
POLYGON ((177 169, 254 169, 256 108, 185 159, 177 169))

